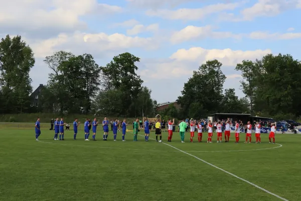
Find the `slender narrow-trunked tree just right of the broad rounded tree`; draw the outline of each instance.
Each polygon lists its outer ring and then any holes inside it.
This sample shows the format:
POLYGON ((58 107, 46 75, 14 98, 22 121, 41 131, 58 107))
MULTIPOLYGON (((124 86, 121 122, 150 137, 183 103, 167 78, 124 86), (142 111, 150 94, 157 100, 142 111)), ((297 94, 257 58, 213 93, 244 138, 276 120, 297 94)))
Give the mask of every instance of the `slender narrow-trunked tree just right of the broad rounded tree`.
POLYGON ((241 76, 243 77, 243 80, 240 81, 242 91, 250 100, 250 110, 252 114, 256 95, 257 75, 260 71, 254 62, 249 60, 243 60, 242 63, 237 64, 235 70, 241 71, 241 76))

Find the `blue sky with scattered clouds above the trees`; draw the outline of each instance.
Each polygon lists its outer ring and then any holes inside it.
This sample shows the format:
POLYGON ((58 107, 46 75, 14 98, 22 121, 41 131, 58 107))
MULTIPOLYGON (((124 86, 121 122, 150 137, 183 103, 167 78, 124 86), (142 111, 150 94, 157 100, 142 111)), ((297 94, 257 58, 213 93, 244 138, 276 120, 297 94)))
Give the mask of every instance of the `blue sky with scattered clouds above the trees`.
POLYGON ((301 0, 0 0, 0 37, 33 49, 32 86, 47 84, 46 56, 92 54, 100 66, 130 52, 158 101, 173 102, 207 60, 218 59, 239 97, 242 60, 272 54, 301 59, 301 0))

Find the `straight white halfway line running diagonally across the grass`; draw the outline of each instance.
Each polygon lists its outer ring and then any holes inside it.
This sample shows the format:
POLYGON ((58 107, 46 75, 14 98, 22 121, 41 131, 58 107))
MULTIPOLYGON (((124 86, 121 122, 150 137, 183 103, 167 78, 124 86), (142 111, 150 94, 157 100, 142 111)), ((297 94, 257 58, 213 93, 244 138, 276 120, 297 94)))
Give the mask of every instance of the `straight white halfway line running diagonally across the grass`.
MULTIPOLYGON (((140 135, 140 136, 141 136, 141 135, 140 135)), ((149 139, 155 140, 155 139, 152 139, 152 138, 149 138, 149 139)), ((185 152, 185 151, 182 151, 181 149, 178 149, 177 147, 174 147, 174 146, 172 146, 172 145, 170 145, 170 144, 167 144, 167 143, 164 143, 164 142, 163 142, 163 144, 165 144, 165 145, 167 145, 167 146, 170 146, 170 147, 172 147, 172 148, 174 148, 174 149, 176 149, 176 150, 178 150, 178 151, 180 151, 180 152, 182 152, 182 153, 185 153, 185 154, 187 154, 187 155, 189 155, 189 156, 192 156, 192 157, 194 157, 194 158, 196 158, 196 159, 202 161, 203 163, 206 163, 207 165, 210 165, 210 166, 212 166, 212 167, 215 167, 215 168, 217 168, 217 169, 219 169, 219 170, 221 170, 221 171, 223 171, 223 172, 225 172, 225 173, 227 173, 227 174, 230 174, 231 176, 234 176, 235 178, 238 178, 238 179, 240 179, 240 180, 242 180, 242 181, 244 181, 244 182, 246 182, 246 183, 248 183, 248 184, 250 184, 250 185, 252 185, 252 186, 255 186, 256 188, 259 188, 260 190, 263 190, 264 192, 266 192, 266 193, 268 193, 268 194, 274 195, 275 197, 277 197, 277 198, 279 198, 279 199, 281 199, 281 200, 288 201, 287 199, 285 199, 285 198, 283 198, 283 197, 280 197, 279 195, 276 195, 275 193, 272 193, 272 192, 270 192, 270 191, 268 191, 268 190, 266 190, 266 189, 264 189, 264 188, 262 188, 262 187, 260 187, 260 186, 258 186, 258 185, 256 185, 256 184, 254 184, 254 183, 252 183, 252 182, 250 182, 250 181, 248 181, 248 180, 246 180, 246 179, 243 179, 243 178, 241 178, 241 177, 239 177, 239 176, 236 176, 235 174, 232 174, 231 172, 228 172, 228 171, 226 171, 226 170, 224 170, 224 169, 222 169, 222 168, 220 168, 220 167, 217 167, 217 166, 215 166, 215 165, 213 165, 213 164, 211 164, 211 163, 209 163, 209 162, 207 162, 207 161, 205 161, 205 160, 203 160, 203 159, 201 159, 201 158, 199 158, 199 157, 197 157, 197 156, 194 156, 194 155, 192 155, 192 154, 190 154, 190 153, 187 153, 187 152, 185 152)))

